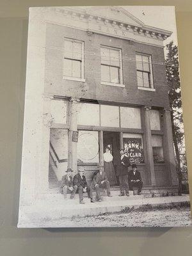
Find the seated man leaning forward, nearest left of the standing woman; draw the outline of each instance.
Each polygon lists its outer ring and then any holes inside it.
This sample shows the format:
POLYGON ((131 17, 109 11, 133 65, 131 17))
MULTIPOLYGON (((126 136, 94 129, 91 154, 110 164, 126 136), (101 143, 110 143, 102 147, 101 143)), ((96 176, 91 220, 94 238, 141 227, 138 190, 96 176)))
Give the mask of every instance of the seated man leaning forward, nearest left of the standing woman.
POLYGON ((91 189, 90 189, 91 198, 93 198, 93 195, 92 195, 93 189, 96 190, 96 197, 97 197, 96 199, 98 202, 101 202, 100 188, 106 188, 108 196, 111 197, 110 183, 109 183, 108 177, 106 175, 106 172, 104 172, 103 165, 99 165, 99 172, 93 177, 93 180, 91 183, 91 189))

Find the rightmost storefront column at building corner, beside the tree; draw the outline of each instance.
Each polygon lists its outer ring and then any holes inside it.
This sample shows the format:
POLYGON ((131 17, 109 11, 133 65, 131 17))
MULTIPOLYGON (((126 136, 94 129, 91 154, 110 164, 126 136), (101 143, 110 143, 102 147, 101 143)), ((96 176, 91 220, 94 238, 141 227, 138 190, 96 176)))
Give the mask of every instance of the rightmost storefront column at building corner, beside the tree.
POLYGON ((174 156, 173 147, 173 134, 172 134, 172 120, 169 109, 164 109, 164 156, 166 156, 167 166, 170 170, 170 178, 172 185, 178 185, 177 181, 177 171, 174 156))

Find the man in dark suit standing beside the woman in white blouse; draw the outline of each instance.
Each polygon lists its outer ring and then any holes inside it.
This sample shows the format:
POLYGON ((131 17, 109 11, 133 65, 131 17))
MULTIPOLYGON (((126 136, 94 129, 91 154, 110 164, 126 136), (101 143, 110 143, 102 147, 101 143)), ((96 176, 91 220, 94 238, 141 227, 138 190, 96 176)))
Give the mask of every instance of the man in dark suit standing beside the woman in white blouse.
POLYGON ((129 180, 128 180, 128 167, 131 165, 129 158, 125 156, 124 150, 120 150, 120 162, 117 166, 117 175, 120 182, 120 195, 129 196, 129 180), (125 191, 125 193, 124 193, 125 191))

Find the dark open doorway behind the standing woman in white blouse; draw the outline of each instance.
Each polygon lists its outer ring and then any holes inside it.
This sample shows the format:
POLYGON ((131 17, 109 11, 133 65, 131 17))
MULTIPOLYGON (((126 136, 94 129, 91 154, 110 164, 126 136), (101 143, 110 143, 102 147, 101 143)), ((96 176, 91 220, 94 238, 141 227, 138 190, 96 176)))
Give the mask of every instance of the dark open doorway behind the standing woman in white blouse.
MULTIPOLYGON (((116 175, 116 168, 118 161, 120 159, 120 132, 103 132, 103 146, 104 146, 104 152, 105 148, 109 147, 110 152, 113 156, 113 166, 115 169, 115 175, 116 175)), ((116 184, 113 184, 112 186, 118 186, 119 180, 116 176, 116 184)))

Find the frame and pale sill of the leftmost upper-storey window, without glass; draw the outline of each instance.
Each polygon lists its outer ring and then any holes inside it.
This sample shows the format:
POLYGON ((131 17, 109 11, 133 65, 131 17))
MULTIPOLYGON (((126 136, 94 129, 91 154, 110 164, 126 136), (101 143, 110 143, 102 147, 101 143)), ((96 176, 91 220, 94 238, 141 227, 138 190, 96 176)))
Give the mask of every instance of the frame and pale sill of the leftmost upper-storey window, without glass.
POLYGON ((81 40, 76 40, 73 38, 65 37, 63 44, 64 44, 63 45, 63 79, 85 82, 85 79, 84 79, 84 42, 81 40), (77 60, 75 58, 65 58, 65 41, 81 43, 81 60, 77 60), (81 77, 65 76, 65 73, 64 73, 64 61, 65 60, 71 60, 71 61, 74 60, 74 61, 79 61, 81 63, 81 65, 80 65, 81 77))

